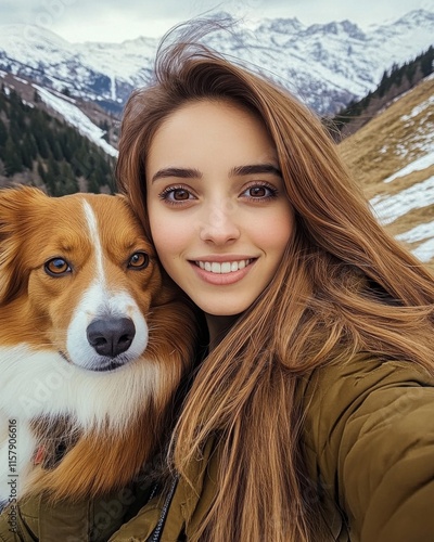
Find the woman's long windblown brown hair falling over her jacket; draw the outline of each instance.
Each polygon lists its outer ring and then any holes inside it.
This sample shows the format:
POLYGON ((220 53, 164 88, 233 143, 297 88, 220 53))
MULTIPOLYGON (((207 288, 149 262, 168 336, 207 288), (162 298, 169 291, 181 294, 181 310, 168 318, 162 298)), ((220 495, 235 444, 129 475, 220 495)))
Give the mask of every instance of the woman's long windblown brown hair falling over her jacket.
POLYGON ((186 102, 216 99, 264 120, 296 227, 273 281, 202 363, 177 425, 175 465, 186 474, 218 435, 217 495, 194 540, 320 540, 305 498, 297 383, 361 350, 434 373, 433 276, 379 225, 314 113, 189 40, 158 52, 154 82, 125 109, 117 176, 145 225, 153 134, 186 102))

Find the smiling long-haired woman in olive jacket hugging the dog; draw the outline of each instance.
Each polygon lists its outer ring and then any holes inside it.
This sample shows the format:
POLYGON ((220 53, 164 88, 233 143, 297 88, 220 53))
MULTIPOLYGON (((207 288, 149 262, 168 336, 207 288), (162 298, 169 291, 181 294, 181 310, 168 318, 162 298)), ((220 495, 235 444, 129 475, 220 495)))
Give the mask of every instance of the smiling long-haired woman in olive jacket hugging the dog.
POLYGON ((24 504, 17 540, 431 540, 433 278, 378 224, 319 120, 178 44, 128 102, 117 173, 209 333, 176 474, 132 504, 24 504))

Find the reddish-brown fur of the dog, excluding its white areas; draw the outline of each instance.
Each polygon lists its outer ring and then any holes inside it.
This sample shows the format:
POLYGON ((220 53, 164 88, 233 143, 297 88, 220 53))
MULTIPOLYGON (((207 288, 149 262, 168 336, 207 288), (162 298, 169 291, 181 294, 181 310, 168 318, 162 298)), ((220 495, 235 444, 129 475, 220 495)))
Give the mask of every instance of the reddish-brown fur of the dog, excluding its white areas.
MULTIPOLYGON (((47 455, 35 467, 25 491, 48 491, 53 499, 100 495, 137 476, 159 446, 171 416, 175 390, 193 357, 192 310, 177 300, 178 292, 162 279, 153 247, 125 198, 85 194, 51 198, 36 189, 22 188, 0 192, 0 371, 8 363, 7 352, 16 345, 53 356, 66 349, 65 335, 74 304, 92 274, 88 264, 92 246, 77 218, 84 199, 99 221, 110 287, 122 286, 131 294, 148 323, 149 344, 139 360, 122 367, 123 372, 131 371, 130 389, 116 388, 116 393, 124 392, 127 399, 131 389, 142 388, 142 392, 136 393, 140 399, 132 410, 126 409, 122 423, 99 420, 97 425, 80 426, 74 412, 66 417, 53 412, 33 418, 38 446, 47 455), (74 280, 51 279, 41 270, 47 257, 56 256, 62 246, 68 258, 80 262, 74 280), (126 273, 119 263, 126 255, 120 253, 137 248, 145 249, 151 262, 143 272, 126 273), (143 367, 153 367, 158 375, 151 385, 143 367), (62 436, 55 434, 55 427, 58 433, 63 427, 62 436), (66 442, 61 461, 50 457, 50 439, 52 443, 59 438, 66 442)), ((23 378, 25 363, 20 360, 17 364, 23 378)), ((101 393, 107 392, 103 382, 101 393)), ((0 383, 0 393, 8 385, 0 383)))

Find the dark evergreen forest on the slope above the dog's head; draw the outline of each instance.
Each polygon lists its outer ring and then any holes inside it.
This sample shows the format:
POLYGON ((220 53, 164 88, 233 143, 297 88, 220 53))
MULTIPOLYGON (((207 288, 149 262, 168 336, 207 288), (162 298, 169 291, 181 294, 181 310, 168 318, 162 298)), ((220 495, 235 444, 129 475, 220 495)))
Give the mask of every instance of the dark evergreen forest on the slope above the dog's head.
POLYGON ((0 90, 0 183, 23 182, 53 196, 108 192, 115 159, 75 128, 2 85, 0 90))

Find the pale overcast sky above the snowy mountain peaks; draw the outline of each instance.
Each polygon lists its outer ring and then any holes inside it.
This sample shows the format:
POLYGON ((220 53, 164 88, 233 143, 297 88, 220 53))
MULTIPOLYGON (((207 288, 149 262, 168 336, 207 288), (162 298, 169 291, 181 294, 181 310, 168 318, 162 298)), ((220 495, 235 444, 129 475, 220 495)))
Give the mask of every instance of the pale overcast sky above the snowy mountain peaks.
POLYGON ((72 42, 119 42, 159 37, 205 12, 227 11, 246 22, 297 17, 306 25, 347 18, 365 29, 419 8, 434 11, 434 0, 0 0, 0 25, 43 26, 72 42))

